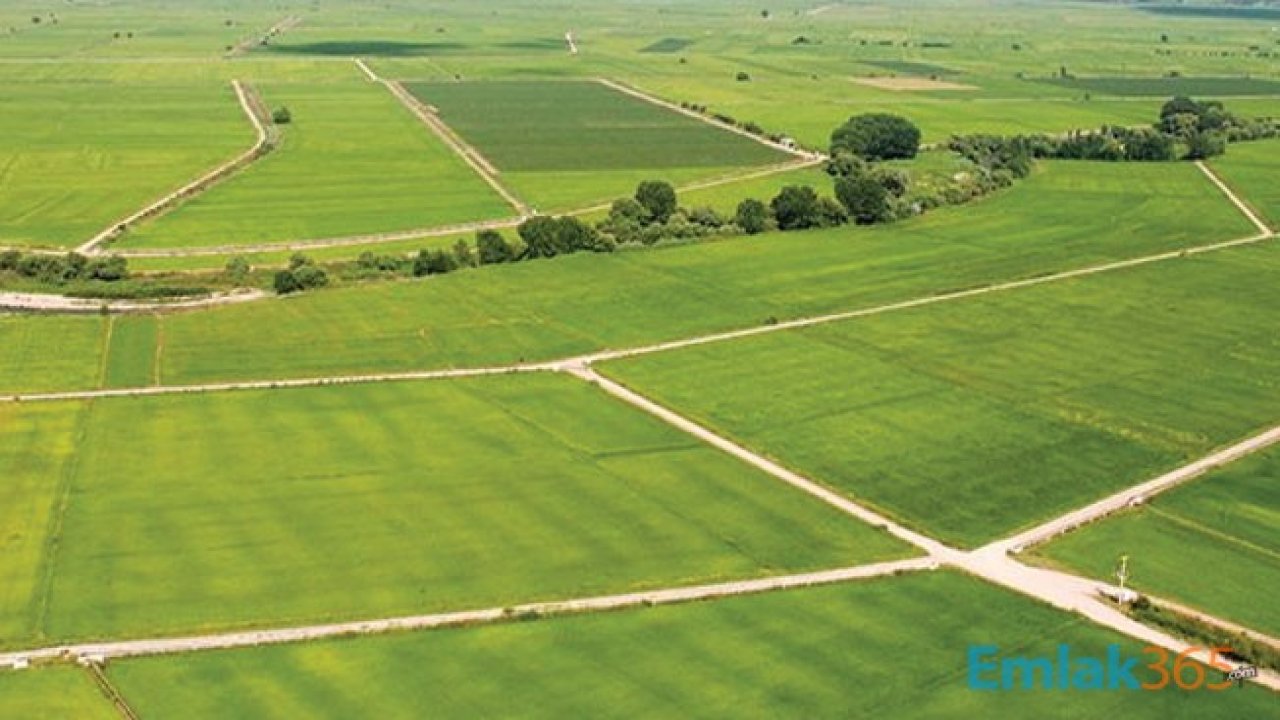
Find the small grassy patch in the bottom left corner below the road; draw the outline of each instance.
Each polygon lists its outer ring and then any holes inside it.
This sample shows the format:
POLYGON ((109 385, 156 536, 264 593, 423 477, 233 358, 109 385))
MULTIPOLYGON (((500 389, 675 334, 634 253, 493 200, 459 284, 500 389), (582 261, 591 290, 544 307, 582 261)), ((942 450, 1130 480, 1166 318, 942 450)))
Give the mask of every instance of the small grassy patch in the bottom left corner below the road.
POLYGON ((72 667, 0 670, 0 716, 24 720, 119 717, 88 673, 72 667))

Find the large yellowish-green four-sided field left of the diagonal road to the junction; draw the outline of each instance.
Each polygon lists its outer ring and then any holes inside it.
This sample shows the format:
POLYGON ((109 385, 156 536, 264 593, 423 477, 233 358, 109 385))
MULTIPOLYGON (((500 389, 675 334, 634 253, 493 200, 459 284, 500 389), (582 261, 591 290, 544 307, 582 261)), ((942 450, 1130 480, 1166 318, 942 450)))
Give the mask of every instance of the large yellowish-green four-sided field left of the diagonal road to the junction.
POLYGON ((42 638, 494 607, 910 555, 561 375, 96 401, 78 447, 42 638))

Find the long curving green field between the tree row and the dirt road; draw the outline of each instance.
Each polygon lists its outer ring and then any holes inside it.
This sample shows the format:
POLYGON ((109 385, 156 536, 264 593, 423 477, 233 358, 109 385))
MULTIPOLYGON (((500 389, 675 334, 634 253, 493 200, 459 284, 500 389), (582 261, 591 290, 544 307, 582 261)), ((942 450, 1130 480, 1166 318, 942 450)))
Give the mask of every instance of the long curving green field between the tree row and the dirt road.
POLYGON ((1240 237, 1190 165, 1062 163, 874 229, 462 272, 163 318, 166 382, 545 360, 892 302, 1240 237))

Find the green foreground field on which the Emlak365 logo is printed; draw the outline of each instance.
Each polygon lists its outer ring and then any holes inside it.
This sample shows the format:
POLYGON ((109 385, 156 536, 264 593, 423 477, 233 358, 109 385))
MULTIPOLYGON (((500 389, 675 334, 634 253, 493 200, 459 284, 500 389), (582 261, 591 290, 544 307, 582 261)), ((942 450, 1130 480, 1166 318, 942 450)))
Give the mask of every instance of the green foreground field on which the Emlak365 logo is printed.
MULTIPOLYGON (((1140 644, 946 571, 536 623, 111 664, 145 717, 1248 717, 1228 692, 980 692, 966 651, 1140 644), (1070 702, 1064 702, 1069 698, 1070 702)), ((1135 678, 1149 682, 1149 670, 1135 678)), ((1210 682, 1217 682, 1213 676, 1210 682)))

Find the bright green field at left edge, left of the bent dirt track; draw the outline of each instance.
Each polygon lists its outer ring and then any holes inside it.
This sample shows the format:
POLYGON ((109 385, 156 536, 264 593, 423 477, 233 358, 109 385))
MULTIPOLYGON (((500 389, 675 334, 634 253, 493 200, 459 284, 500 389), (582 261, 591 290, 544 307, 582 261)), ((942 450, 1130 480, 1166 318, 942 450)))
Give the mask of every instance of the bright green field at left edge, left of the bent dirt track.
POLYGON ((229 83, 0 88, 0 245, 74 247, 253 142, 229 83))

